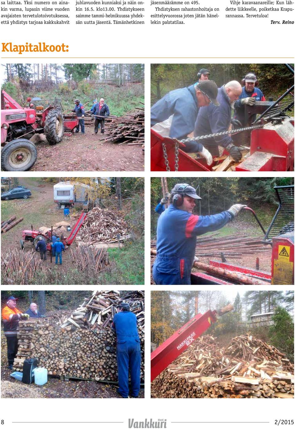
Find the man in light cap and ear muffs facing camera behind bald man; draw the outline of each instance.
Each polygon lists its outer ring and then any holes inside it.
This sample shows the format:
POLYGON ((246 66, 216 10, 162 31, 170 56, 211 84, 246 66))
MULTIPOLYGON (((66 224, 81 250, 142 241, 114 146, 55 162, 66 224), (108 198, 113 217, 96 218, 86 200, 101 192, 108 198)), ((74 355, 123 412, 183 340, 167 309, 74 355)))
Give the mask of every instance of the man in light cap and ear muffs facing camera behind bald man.
POLYGON ((262 94, 262 91, 257 88, 256 85, 257 78, 254 73, 248 73, 245 76, 245 86, 242 88, 242 93, 239 99, 235 102, 235 113, 234 118, 240 121, 243 127, 246 127, 252 122, 255 121, 256 115, 251 115, 249 123, 245 121, 245 105, 254 106, 256 101, 265 101, 265 97, 262 94))

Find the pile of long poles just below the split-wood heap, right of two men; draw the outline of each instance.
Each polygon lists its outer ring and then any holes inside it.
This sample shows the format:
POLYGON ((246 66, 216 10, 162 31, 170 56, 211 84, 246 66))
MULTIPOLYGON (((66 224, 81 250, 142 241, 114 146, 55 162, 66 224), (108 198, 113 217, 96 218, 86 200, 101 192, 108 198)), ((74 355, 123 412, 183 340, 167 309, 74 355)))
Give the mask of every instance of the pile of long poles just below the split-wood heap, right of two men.
POLYGON ((105 248, 95 249, 88 246, 78 246, 74 251, 70 249, 72 262, 80 271, 101 272, 108 265, 108 251, 105 248))

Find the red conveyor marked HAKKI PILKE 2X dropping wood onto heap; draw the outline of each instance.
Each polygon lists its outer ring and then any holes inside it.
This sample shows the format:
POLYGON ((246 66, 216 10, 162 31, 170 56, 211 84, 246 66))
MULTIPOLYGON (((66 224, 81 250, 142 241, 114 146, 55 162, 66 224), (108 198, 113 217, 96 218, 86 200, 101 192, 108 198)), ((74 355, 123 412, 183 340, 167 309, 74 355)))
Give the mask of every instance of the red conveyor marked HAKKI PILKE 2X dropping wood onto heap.
POLYGON ((205 314, 196 314, 189 322, 185 323, 170 338, 160 344, 151 353, 151 381, 157 377, 170 363, 172 363, 181 353, 187 350, 203 332, 210 328, 217 320, 217 315, 221 316, 233 310, 231 304, 216 311, 206 311, 205 314))

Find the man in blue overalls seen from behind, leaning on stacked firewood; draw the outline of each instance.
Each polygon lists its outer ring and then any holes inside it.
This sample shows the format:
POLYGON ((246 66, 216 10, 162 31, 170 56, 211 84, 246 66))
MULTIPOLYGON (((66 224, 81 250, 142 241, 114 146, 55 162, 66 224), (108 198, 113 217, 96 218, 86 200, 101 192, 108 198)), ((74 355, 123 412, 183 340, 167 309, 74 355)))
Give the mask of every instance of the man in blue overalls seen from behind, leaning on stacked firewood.
POLYGON ((137 332, 137 320, 130 306, 122 302, 117 306, 117 314, 114 315, 113 329, 117 335, 117 366, 118 383, 117 393, 123 398, 128 398, 129 369, 131 376, 130 396, 138 397, 140 389, 140 339, 137 332))

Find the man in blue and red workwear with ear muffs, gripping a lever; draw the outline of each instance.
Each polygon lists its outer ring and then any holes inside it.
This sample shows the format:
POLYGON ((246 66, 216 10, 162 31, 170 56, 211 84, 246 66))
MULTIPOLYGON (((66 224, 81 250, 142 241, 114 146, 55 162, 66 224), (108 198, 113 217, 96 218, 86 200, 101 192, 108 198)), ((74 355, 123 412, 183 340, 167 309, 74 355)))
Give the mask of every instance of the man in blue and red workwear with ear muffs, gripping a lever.
POLYGON ((196 253, 197 236, 216 231, 232 221, 245 205, 234 204, 217 215, 193 215, 196 189, 187 183, 176 184, 170 205, 157 225, 157 257, 153 266, 155 284, 191 284, 190 273, 196 253))

